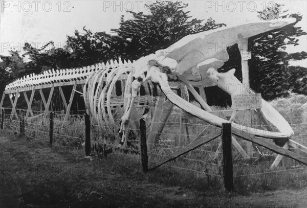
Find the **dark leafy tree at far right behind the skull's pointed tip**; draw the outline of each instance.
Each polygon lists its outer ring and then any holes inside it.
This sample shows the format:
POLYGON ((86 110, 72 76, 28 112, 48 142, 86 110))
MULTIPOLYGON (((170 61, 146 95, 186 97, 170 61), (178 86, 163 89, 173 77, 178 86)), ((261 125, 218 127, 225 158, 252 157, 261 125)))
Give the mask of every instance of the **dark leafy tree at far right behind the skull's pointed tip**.
POLYGON ((307 53, 288 54, 284 51, 287 45, 299 44, 298 36, 306 35, 300 27, 295 27, 302 15, 288 14, 287 10, 282 10, 282 6, 275 4, 259 11, 258 17, 265 20, 294 17, 296 22, 249 41, 249 50, 253 54, 249 61, 251 87, 266 100, 288 96, 291 90, 307 95, 307 68, 289 66, 289 60, 306 59, 307 53))

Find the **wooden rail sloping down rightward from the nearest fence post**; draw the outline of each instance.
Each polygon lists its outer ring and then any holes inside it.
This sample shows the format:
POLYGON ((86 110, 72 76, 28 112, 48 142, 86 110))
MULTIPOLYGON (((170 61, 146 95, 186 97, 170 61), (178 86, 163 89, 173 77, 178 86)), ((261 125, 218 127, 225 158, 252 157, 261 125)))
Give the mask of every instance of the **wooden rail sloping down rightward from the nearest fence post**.
POLYGON ((300 162, 304 165, 307 165, 307 157, 299 155, 299 154, 294 153, 294 152, 291 152, 290 150, 283 149, 282 147, 279 147, 275 144, 269 143, 261 137, 257 137, 255 135, 252 135, 252 134, 249 134, 249 133, 246 133, 246 132, 239 132, 239 133, 238 132, 232 132, 232 133, 234 135, 237 135, 237 136, 243 138, 244 140, 247 140, 247 141, 253 142, 253 143, 255 143, 259 146, 265 147, 265 148, 271 150, 272 152, 287 156, 287 157, 292 158, 292 159, 294 159, 294 160, 296 160, 296 161, 298 161, 298 162, 300 162))

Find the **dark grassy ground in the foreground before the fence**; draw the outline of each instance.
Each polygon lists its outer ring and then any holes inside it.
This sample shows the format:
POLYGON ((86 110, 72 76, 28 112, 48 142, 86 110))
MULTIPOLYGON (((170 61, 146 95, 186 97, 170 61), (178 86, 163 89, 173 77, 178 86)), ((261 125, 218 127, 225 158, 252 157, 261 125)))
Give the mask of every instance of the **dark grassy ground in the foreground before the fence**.
MULTIPOLYGON (((0 207, 307 207, 307 190, 238 195, 149 182, 123 155, 85 158, 0 131, 0 207)), ((140 167, 138 168, 140 169, 140 167)))

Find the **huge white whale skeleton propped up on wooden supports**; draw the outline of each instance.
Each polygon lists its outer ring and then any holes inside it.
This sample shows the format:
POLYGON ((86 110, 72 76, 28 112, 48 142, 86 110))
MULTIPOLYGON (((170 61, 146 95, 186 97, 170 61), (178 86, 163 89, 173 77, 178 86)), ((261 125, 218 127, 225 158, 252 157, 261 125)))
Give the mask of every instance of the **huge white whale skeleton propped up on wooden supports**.
MULTIPOLYGON (((284 147, 292 146, 307 154, 306 147, 291 140, 293 130, 288 122, 266 101, 262 99, 262 107, 256 110, 262 114, 268 124, 273 124, 277 131, 256 129, 235 123, 234 118, 237 110, 232 110, 230 120, 218 117, 215 115, 215 111, 212 111, 207 104, 203 91, 206 86, 217 85, 230 95, 242 94, 242 92, 248 95, 254 94, 247 84, 249 83, 247 60, 250 58, 250 53, 247 51, 248 38, 285 27, 293 22, 294 19, 282 19, 253 22, 233 28, 220 28, 186 36, 168 49, 160 50, 155 54, 150 54, 133 62, 122 61, 119 58, 106 64, 98 63, 83 68, 56 72, 49 70, 40 75, 28 75, 6 86, 0 107, 2 107, 6 94, 9 94, 11 99, 13 95, 19 95, 21 91, 32 90, 34 95, 34 90, 36 89, 50 87, 53 89, 55 86, 60 88, 60 86, 65 85, 83 84, 83 99, 87 113, 107 133, 114 134, 117 130, 115 128, 118 128, 121 142, 124 145, 127 143, 128 130, 138 135, 138 124, 131 122, 131 119, 138 120, 144 117, 146 114, 145 109, 149 109, 152 121, 159 122, 162 113, 161 109, 164 107, 163 113, 165 115, 162 116, 162 121, 166 121, 172 106, 175 105, 193 117, 218 128, 221 128, 224 123, 230 123, 234 135, 278 153, 279 156, 275 159, 272 167, 278 165, 280 155, 286 155, 307 165, 306 156, 292 152, 287 148, 279 147, 267 140, 286 141, 284 147), (243 82, 240 82, 234 76, 235 69, 226 73, 216 71, 216 68, 221 67, 229 58, 228 53, 225 52, 226 50, 218 51, 212 47, 212 43, 216 43, 216 41, 240 44, 243 82), (170 49, 171 53, 167 53, 170 49), (119 87, 118 83, 120 83, 119 87), (235 90, 229 90, 225 87, 233 83, 238 86, 235 90), (158 98, 157 95, 152 94, 152 89, 156 87, 156 84, 160 88, 160 97, 158 98), (194 89, 195 86, 200 87, 200 93, 194 89), (117 95, 118 88, 120 88, 121 95, 117 95), (142 95, 140 93, 141 88, 145 91, 142 95), (182 91, 182 97, 178 96, 176 90, 174 90, 178 88, 182 91), (195 100, 199 102, 202 109, 188 102, 188 90, 195 100), (128 128, 128 126, 131 128, 128 128)), ((157 91, 159 91, 159 88, 157 91)), ((47 104, 51 101, 51 96, 49 97, 48 102, 45 101, 47 104)), ((27 102, 28 105, 30 103, 28 107, 30 112, 32 99, 33 96, 31 95, 30 102, 27 102)), ((13 108, 16 106, 16 101, 17 96, 14 103, 11 100, 12 105, 14 104, 13 108)), ((46 108, 46 111, 48 110, 49 105, 46 108)), ((12 110, 11 117, 13 117, 13 114, 12 110)), ((153 126, 153 123, 151 123, 150 129, 155 131, 157 127, 153 126)), ((158 128, 160 133, 162 128, 158 128)), ((164 161, 161 161, 161 164, 198 148, 220 135, 220 133, 211 133, 210 138, 203 139, 201 135, 204 132, 205 130, 186 147, 173 152, 164 161)), ((153 148, 157 135, 155 133, 153 136, 148 136, 148 148, 153 148)), ((234 138, 233 142, 236 142, 234 138)), ((235 144, 238 145, 237 142, 235 144)), ((241 152, 246 154, 244 151, 241 152)))

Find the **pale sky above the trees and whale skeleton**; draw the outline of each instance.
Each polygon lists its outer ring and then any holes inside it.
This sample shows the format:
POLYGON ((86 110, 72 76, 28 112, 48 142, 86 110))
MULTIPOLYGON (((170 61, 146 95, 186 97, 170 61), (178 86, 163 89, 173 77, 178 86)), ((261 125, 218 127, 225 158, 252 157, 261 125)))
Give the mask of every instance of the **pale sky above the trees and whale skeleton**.
MULTIPOLYGON (((110 32, 119 27, 120 16, 127 16, 126 10, 148 13, 146 4, 153 1, 4 1, 1 2, 0 42, 1 55, 8 55, 13 48, 22 51, 25 42, 36 48, 53 40, 56 47, 62 47, 67 35, 74 31, 90 29, 92 32, 110 32)), ((259 20, 257 12, 266 6, 283 4, 289 13, 300 12, 302 21, 296 26, 307 31, 306 1, 183 1, 188 3, 186 11, 192 18, 208 19, 227 26, 242 25, 259 20)), ((128 18, 128 16, 127 16, 128 18)), ((307 36, 299 37, 299 45, 288 47, 288 53, 307 51, 307 36)), ((306 60, 290 62, 307 67, 306 60)))

